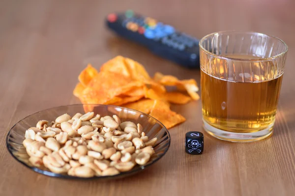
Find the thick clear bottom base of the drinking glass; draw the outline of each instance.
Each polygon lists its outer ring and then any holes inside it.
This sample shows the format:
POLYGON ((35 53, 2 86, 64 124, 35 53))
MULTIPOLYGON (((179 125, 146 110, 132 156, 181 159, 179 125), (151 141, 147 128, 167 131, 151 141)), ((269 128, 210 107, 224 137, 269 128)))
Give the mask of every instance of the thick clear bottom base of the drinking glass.
POLYGON ((224 131, 214 126, 211 126, 203 119, 203 127, 207 133, 220 140, 225 140, 229 142, 254 142, 258 140, 265 139, 272 135, 273 124, 268 126, 266 129, 250 132, 250 133, 234 133, 229 131, 224 131))

